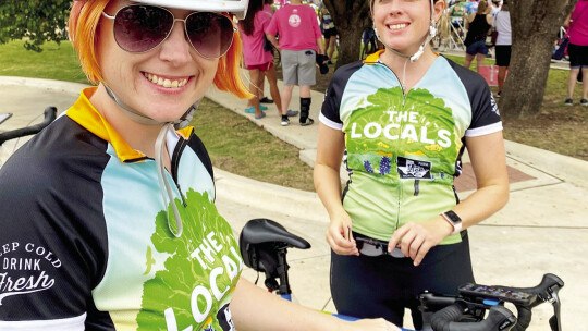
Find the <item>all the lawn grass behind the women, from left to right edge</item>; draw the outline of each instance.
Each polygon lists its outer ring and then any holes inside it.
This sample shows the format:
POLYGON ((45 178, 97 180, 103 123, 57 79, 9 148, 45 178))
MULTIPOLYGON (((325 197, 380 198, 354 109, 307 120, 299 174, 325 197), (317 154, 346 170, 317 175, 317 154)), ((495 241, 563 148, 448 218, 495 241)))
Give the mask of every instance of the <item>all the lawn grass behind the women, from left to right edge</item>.
MULTIPOLYGON (((463 63, 462 57, 449 58, 463 63)), ((492 60, 487 59, 487 62, 492 63, 492 60)), ((40 53, 25 50, 22 41, 0 45, 0 75, 88 83, 69 41, 60 46, 48 42, 40 53)), ((317 74, 315 89, 324 90, 332 72, 331 66, 329 75, 317 74)), ((585 128, 588 108, 563 106, 566 86, 567 71, 550 70, 539 117, 505 121, 504 137, 588 160, 588 130, 585 128)), ((580 86, 577 86, 576 99, 579 91, 580 86)), ((313 170, 299 161, 298 150, 246 118, 205 100, 195 123, 216 167, 264 182, 314 191, 313 170)))

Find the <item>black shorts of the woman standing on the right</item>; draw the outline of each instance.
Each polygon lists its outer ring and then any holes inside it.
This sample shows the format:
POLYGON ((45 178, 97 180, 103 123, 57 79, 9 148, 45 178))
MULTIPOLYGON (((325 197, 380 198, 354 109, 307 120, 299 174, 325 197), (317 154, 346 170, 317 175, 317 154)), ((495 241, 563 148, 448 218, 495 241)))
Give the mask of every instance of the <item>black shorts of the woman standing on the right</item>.
POLYGON ((422 328, 418 294, 457 294, 457 286, 474 282, 469 241, 438 245, 418 267, 411 258, 343 256, 331 252, 331 294, 339 314, 359 318, 385 318, 402 326, 404 308, 413 324, 422 328))

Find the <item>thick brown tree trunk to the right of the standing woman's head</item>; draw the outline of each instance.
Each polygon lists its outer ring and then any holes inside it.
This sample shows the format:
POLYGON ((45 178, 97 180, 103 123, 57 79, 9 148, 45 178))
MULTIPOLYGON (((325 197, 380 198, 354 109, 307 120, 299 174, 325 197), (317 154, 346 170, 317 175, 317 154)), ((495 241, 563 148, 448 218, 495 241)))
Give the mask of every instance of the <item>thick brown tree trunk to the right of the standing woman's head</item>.
POLYGON ((512 57, 499 108, 504 118, 535 117, 541 110, 560 26, 578 0, 512 0, 512 57))

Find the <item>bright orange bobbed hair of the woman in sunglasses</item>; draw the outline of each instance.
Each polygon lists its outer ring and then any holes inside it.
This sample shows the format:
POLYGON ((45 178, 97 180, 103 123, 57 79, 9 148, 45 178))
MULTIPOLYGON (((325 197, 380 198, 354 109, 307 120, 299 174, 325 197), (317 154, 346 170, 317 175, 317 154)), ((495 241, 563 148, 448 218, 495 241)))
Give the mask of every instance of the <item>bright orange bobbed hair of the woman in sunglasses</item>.
MULTIPOLYGON (((76 0, 73 2, 68 21, 70 40, 77 51, 82 70, 91 83, 103 82, 102 72, 97 59, 98 23, 102 11, 110 0, 76 0)), ((231 19, 230 15, 228 15, 231 19)), ((213 84, 218 89, 230 91, 240 98, 252 98, 245 83, 241 78, 241 54, 243 46, 238 34, 234 34, 233 45, 219 59, 213 84)))

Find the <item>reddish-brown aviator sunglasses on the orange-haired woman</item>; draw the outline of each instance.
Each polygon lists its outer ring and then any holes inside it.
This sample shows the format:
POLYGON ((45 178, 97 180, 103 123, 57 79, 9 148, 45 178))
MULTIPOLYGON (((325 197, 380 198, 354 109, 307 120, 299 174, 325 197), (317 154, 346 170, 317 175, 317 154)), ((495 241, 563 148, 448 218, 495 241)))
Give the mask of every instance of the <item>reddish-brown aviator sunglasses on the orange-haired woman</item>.
POLYGON ((159 46, 171 34, 175 22, 184 22, 184 30, 192 47, 204 58, 218 59, 233 44, 235 27, 231 19, 210 12, 193 12, 185 20, 175 19, 169 10, 145 4, 121 8, 114 16, 114 40, 127 52, 142 53, 159 46))

